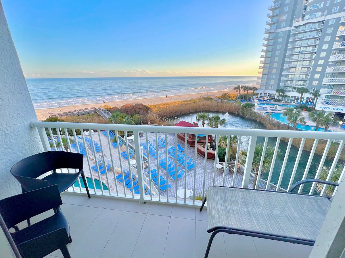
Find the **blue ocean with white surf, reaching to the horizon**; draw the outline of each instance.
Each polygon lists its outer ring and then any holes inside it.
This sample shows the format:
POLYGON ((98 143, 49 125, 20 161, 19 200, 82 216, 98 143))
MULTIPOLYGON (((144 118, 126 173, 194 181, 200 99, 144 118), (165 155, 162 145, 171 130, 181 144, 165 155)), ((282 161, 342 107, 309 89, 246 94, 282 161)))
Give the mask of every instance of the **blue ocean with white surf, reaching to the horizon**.
POLYGON ((37 109, 142 99, 165 95, 211 93, 238 84, 254 85, 256 76, 39 78, 26 79, 37 109))

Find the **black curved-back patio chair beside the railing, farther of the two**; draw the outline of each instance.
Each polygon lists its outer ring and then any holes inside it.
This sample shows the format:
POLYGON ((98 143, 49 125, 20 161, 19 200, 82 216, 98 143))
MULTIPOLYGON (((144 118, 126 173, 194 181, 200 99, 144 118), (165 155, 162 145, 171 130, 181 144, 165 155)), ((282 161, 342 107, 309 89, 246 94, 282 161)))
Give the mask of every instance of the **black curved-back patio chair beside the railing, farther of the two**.
MULTIPOLYGON (((79 175, 83 179, 88 197, 90 193, 83 171, 83 155, 67 151, 47 151, 32 155, 14 164, 11 174, 19 181, 22 192, 29 192, 49 185, 57 184, 63 192, 74 184, 79 175), (57 173, 57 169, 79 169, 76 173, 57 173), (52 171, 50 175, 37 179, 52 171)), ((28 220, 30 225, 30 220, 28 220)))

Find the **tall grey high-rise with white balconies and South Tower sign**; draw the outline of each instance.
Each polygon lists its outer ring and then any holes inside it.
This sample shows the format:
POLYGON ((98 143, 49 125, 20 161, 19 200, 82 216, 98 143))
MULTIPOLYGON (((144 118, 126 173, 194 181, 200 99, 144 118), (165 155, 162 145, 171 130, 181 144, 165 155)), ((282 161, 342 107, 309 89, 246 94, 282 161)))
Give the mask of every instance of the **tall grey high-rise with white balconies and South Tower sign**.
POLYGON ((345 0, 273 1, 259 66, 259 96, 277 96, 276 90, 283 89, 287 103, 315 103, 318 110, 344 117, 344 6, 345 0), (298 88, 309 90, 302 100, 298 88))

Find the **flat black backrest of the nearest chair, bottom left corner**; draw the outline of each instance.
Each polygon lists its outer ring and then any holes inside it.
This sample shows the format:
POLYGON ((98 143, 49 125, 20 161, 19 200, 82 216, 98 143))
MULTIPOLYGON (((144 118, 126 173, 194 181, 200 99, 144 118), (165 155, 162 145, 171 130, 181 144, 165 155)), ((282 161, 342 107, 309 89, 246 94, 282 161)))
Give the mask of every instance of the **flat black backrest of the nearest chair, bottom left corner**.
POLYGON ((58 185, 51 185, 0 200, 0 214, 10 229, 28 218, 58 208, 61 204, 58 185))

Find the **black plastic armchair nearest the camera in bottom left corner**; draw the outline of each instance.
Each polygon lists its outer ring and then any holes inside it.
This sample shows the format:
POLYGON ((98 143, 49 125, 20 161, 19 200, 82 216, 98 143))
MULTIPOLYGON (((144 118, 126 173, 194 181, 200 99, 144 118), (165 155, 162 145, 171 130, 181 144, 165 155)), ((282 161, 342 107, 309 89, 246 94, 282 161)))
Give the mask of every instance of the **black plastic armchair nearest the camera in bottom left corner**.
POLYGON ((0 200, 0 215, 4 222, 1 222, 1 227, 22 258, 44 257, 57 249, 61 250, 63 257, 71 257, 67 244, 72 242, 72 238, 67 218, 60 209, 61 204, 57 185, 0 200), (17 226, 50 209, 54 209, 54 215, 22 229, 17 226), (11 228, 15 232, 9 232, 11 228))

